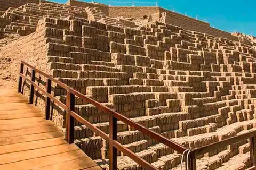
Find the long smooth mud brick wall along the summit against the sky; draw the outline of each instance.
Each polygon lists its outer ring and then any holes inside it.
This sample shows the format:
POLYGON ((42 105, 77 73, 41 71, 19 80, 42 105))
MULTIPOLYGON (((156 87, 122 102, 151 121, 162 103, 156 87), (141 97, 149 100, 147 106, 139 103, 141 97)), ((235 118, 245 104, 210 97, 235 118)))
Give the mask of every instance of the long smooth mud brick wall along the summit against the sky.
POLYGON ((215 37, 223 37, 230 40, 238 41, 238 38, 236 36, 231 35, 229 32, 212 28, 210 27, 209 23, 205 23, 203 21, 199 21, 194 18, 181 15, 179 13, 165 10, 164 8, 161 8, 161 7, 106 6, 102 4, 93 4, 93 3, 86 3, 86 2, 73 1, 73 0, 68 1, 67 4, 72 6, 79 6, 79 7, 98 8, 97 10, 98 12, 93 10, 93 13, 95 14, 98 13, 97 15, 101 15, 99 14, 99 10, 100 10, 100 12, 102 12, 103 14, 109 17, 108 20, 111 20, 111 18, 116 18, 116 17, 141 18, 144 15, 150 15, 153 21, 160 21, 163 23, 182 27, 186 30, 203 32, 209 35, 213 35, 215 37))

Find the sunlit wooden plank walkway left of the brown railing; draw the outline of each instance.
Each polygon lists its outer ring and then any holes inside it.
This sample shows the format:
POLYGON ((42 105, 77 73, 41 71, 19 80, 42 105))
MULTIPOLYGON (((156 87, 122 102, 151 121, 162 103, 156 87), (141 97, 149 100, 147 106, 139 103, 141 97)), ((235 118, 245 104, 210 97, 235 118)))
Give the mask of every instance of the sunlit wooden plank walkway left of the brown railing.
POLYGON ((44 114, 13 89, 0 89, 0 169, 100 170, 44 114))

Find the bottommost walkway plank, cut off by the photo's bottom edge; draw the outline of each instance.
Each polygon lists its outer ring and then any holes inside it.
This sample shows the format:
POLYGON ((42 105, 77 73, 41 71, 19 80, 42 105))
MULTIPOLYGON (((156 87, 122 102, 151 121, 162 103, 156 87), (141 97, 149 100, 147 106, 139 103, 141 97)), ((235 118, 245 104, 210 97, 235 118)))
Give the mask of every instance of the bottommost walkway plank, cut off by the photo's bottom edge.
MULTIPOLYGON (((80 170, 80 169, 88 169, 98 167, 99 170, 102 170, 96 163, 93 162, 93 160, 90 157, 87 158, 80 158, 76 160, 71 160, 68 162, 60 163, 60 164, 54 164, 51 166, 46 166, 43 168, 39 168, 36 170, 80 170)), ((95 169, 96 170, 96 169, 95 169)))

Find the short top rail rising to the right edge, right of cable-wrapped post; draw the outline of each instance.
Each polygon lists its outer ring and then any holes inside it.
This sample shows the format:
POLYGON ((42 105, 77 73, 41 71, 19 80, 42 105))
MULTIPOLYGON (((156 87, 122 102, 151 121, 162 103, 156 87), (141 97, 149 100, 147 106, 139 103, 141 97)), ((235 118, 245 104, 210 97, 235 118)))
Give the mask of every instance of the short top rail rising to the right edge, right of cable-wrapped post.
POLYGON ((210 145, 195 148, 195 149, 193 149, 193 151, 195 152, 196 155, 202 155, 202 154, 205 154, 206 152, 209 152, 209 151, 221 148, 221 147, 228 146, 232 143, 235 143, 235 142, 238 142, 238 141, 241 141, 241 140, 244 140, 244 139, 252 138, 255 135, 256 135, 256 130, 251 131, 251 132, 247 132, 247 133, 244 133, 244 134, 241 134, 241 135, 237 135, 235 137, 231 137, 231 138, 228 138, 228 139, 224 139, 224 140, 221 140, 221 141, 218 141, 218 142, 214 142, 214 143, 211 143, 210 145))

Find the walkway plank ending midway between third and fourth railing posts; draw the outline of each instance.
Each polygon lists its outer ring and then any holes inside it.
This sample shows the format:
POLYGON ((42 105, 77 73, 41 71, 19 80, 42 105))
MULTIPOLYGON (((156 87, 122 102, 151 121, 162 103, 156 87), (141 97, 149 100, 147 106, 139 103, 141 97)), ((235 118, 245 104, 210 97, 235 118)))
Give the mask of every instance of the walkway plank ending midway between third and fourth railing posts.
POLYGON ((53 132, 53 131, 58 131, 58 130, 60 130, 60 129, 57 126, 39 126, 39 127, 36 126, 33 128, 28 128, 28 129, 2 131, 2 132, 0 132, 0 138, 18 137, 21 135, 53 132))

